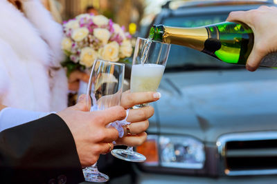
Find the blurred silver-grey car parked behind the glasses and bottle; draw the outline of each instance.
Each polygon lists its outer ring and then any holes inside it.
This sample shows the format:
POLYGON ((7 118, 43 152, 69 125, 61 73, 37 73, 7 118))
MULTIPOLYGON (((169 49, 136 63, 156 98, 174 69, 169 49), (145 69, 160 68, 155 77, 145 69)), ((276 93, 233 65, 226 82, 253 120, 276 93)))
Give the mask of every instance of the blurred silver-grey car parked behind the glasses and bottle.
MULTIPOLYGON (((267 1, 164 6, 154 24, 196 27, 267 1)), ((277 31, 277 30, 275 30, 277 31)), ((248 72, 172 45, 136 183, 277 183, 277 70, 248 72)))

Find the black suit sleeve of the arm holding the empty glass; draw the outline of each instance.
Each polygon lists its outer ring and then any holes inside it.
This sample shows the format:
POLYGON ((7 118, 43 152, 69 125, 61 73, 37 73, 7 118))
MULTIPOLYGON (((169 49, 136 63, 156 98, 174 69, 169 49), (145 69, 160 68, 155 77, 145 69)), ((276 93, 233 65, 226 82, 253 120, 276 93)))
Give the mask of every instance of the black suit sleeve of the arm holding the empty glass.
POLYGON ((0 183, 80 183, 73 136, 56 114, 0 133, 0 183))

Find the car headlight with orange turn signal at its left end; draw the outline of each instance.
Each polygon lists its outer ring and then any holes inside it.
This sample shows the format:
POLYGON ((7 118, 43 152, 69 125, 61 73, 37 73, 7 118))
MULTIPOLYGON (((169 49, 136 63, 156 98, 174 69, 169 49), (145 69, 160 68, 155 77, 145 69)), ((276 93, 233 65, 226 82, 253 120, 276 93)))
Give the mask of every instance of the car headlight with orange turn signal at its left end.
POLYGON ((145 165, 202 169, 206 159, 204 144, 191 136, 148 136, 137 151, 147 158, 145 165))

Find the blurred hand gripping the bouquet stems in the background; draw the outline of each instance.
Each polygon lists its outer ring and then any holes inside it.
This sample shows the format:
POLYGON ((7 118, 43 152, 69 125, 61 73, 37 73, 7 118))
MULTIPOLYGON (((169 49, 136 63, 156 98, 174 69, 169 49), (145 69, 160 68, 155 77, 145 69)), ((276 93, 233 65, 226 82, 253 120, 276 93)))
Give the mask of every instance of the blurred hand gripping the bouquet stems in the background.
POLYGON ((80 81, 89 83, 89 75, 84 72, 80 72, 79 70, 75 70, 69 75, 69 90, 77 92, 79 90, 80 81))

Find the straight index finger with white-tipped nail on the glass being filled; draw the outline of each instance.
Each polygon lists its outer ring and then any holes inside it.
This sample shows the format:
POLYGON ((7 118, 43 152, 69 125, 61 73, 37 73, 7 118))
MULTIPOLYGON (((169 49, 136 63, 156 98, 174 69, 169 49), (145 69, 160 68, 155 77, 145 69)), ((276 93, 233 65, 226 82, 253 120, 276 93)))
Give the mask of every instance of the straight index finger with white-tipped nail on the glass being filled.
POLYGON ((141 103, 150 103, 152 101, 157 101, 160 98, 161 93, 159 92, 126 92, 122 95, 120 105, 123 106, 123 108, 127 109, 141 103))

